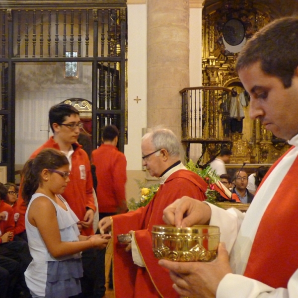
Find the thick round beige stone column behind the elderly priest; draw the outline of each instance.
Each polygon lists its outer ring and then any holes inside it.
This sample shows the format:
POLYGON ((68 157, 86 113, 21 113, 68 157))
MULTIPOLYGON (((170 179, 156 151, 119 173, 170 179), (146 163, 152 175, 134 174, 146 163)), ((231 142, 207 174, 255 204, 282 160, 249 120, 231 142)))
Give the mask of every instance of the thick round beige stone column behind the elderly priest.
POLYGON ((179 91, 189 87, 189 0, 147 5, 147 127, 164 125, 180 140, 179 91))

